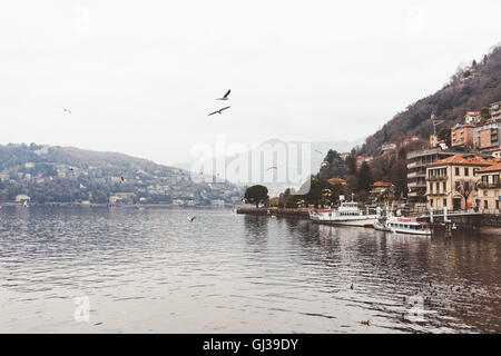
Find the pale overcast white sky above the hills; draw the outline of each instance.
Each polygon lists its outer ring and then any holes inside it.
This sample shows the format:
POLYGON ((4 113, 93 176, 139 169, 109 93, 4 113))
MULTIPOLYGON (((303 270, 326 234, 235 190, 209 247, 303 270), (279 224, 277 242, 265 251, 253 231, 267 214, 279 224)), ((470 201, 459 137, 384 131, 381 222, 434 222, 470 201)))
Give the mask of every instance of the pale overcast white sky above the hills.
POLYGON ((2 1, 0 144, 174 165, 222 136, 357 140, 500 43, 500 16, 499 0, 2 1))

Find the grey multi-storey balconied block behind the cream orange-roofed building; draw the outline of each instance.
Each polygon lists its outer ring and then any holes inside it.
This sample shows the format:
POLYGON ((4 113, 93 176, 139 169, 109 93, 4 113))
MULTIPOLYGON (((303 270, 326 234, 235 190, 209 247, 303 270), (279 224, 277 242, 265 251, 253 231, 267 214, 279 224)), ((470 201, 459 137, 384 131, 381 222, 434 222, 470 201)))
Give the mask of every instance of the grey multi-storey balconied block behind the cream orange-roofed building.
POLYGON ((412 207, 426 206, 426 166, 454 155, 455 152, 439 147, 407 154, 407 198, 412 207))

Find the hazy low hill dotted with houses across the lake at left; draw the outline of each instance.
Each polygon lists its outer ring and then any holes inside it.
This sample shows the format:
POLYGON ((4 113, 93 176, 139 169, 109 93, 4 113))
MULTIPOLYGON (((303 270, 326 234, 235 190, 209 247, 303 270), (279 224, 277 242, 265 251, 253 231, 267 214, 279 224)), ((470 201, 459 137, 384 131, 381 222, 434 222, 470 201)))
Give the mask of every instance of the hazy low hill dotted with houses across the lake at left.
POLYGON ((191 178, 186 170, 118 152, 0 145, 0 199, 6 201, 23 194, 37 202, 107 204, 112 197, 128 204, 222 206, 243 196, 227 181, 191 178))

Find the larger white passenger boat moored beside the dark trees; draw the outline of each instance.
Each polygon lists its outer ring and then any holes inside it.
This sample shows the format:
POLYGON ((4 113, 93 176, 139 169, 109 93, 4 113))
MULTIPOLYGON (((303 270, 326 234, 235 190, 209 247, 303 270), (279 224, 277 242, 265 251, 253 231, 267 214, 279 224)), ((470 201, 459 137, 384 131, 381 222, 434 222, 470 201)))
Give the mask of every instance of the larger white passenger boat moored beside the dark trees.
POLYGON ((364 214, 355 201, 343 201, 337 209, 317 209, 310 211, 313 222, 373 227, 377 215, 364 214))

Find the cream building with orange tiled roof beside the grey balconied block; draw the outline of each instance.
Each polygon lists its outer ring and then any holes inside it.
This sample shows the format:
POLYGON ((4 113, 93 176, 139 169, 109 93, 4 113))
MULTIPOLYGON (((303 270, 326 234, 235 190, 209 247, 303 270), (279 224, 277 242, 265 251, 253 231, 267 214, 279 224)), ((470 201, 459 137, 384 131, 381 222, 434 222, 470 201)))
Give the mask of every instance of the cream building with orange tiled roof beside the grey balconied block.
POLYGON ((494 159, 475 155, 454 155, 426 167, 426 207, 449 210, 471 209, 477 202, 478 171, 494 159), (464 194, 468 191, 468 194, 464 194), (466 195, 466 199, 464 197, 466 195))

